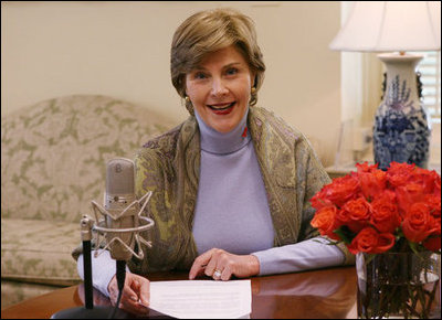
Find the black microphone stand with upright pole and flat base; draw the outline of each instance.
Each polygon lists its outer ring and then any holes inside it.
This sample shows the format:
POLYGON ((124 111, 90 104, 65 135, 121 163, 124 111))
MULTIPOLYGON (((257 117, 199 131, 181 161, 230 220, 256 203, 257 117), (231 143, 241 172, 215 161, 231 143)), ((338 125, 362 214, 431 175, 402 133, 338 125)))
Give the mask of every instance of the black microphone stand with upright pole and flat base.
POLYGON ((107 319, 115 316, 117 319, 130 319, 130 314, 112 306, 94 307, 94 288, 92 286, 91 239, 94 221, 83 215, 80 222, 83 242, 83 270, 84 270, 84 307, 61 310, 52 314, 51 319, 107 319), (113 313, 115 312, 115 313, 113 313))

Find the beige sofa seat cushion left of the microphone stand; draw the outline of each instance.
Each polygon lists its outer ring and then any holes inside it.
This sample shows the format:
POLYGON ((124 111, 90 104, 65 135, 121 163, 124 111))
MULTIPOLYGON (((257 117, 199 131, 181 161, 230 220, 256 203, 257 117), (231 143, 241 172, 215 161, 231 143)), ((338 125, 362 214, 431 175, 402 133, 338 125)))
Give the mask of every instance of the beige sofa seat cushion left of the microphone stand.
POLYGON ((80 282, 72 249, 80 222, 2 218, 1 278, 71 286, 80 282))

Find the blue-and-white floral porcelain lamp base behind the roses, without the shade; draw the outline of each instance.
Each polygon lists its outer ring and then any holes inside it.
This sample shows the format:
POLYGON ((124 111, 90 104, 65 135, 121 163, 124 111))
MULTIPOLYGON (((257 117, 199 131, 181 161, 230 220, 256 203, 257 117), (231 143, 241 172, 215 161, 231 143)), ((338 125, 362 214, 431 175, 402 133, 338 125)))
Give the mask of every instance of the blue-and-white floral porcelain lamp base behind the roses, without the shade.
POLYGON ((431 128, 418 95, 418 55, 379 54, 386 64, 383 99, 373 126, 375 162, 387 170, 392 161, 414 163, 427 169, 431 128))

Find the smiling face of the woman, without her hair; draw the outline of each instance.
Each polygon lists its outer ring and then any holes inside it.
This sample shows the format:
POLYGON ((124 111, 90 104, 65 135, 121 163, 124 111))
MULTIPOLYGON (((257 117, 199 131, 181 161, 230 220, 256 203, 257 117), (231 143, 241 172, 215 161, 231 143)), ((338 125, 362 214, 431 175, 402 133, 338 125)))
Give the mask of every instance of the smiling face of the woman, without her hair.
POLYGON ((208 54, 186 74, 186 94, 206 125, 229 132, 248 109, 252 79, 249 64, 231 45, 208 54))

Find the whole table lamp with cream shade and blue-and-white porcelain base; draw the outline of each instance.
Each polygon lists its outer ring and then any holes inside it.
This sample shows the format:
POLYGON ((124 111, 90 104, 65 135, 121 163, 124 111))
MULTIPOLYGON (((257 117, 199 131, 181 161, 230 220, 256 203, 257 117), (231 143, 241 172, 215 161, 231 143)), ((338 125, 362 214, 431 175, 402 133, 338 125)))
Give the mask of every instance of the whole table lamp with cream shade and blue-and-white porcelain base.
POLYGON ((387 70, 386 92, 373 124, 373 156, 428 167, 431 128, 419 98, 415 66, 422 55, 406 51, 441 49, 440 1, 356 1, 329 47, 378 54, 387 70))

